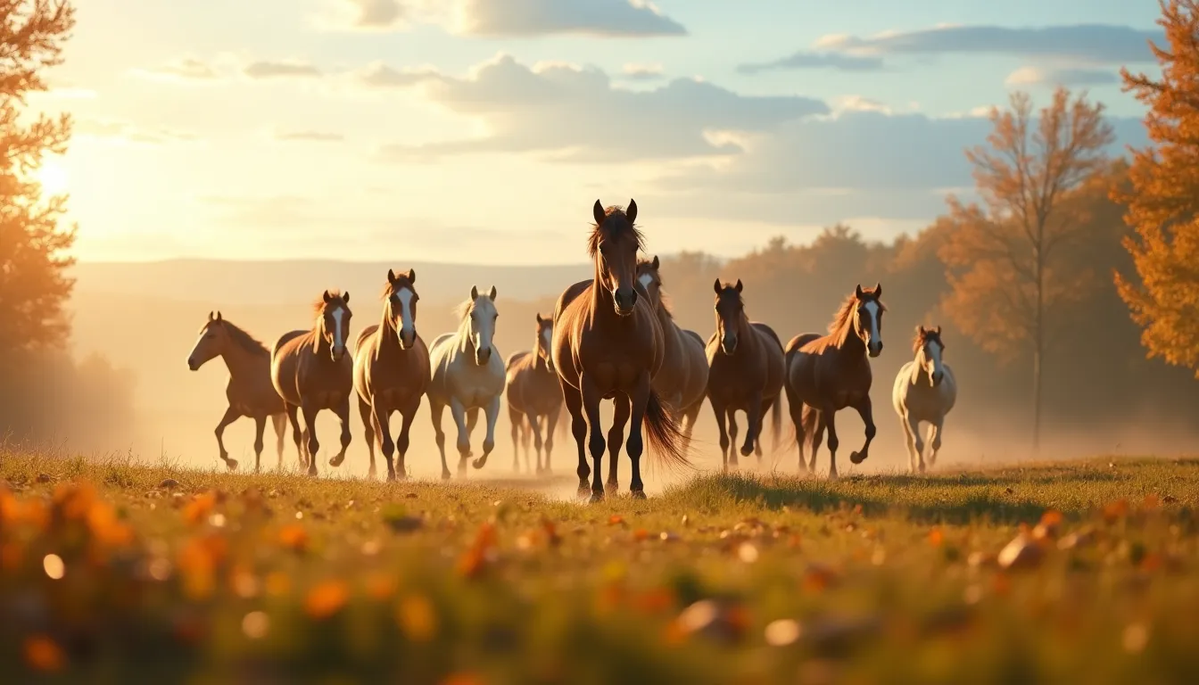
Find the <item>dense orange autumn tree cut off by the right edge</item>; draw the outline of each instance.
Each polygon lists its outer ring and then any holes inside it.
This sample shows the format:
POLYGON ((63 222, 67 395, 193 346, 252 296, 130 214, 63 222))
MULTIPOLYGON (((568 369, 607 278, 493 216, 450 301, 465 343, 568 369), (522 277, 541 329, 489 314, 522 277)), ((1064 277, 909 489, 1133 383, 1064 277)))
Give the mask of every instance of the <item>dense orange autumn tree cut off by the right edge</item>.
POLYGON ((1134 151, 1131 188, 1116 193, 1137 232, 1125 247, 1139 276, 1117 275, 1116 287, 1149 356, 1199 375, 1199 4, 1159 5, 1169 47, 1151 47, 1162 78, 1120 71, 1123 90, 1149 106, 1151 144, 1134 151))

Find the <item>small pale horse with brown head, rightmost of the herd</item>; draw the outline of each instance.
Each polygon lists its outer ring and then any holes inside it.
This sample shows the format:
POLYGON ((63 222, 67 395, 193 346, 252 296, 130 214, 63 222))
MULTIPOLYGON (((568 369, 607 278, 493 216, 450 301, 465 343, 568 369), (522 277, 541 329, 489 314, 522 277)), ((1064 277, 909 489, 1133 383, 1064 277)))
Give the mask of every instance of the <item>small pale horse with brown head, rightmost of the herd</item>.
POLYGON ((924 441, 920 439, 920 422, 932 423, 928 441, 933 449, 928 455, 928 465, 936 465, 945 415, 958 399, 958 383, 950 365, 941 361, 945 353, 941 326, 917 326, 912 350, 916 359, 899 369, 891 401, 908 437, 908 468, 911 473, 916 473, 917 468, 924 473, 924 441))

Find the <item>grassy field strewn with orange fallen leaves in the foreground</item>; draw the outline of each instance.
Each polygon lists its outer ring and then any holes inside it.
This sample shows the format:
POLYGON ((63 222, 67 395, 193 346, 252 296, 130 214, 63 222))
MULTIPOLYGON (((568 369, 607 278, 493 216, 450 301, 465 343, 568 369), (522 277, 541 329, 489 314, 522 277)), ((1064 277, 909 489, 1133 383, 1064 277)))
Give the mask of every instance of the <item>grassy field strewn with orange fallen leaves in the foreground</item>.
POLYGON ((1199 681, 1199 461, 597 505, 2 449, 0 476, 8 683, 1199 681))

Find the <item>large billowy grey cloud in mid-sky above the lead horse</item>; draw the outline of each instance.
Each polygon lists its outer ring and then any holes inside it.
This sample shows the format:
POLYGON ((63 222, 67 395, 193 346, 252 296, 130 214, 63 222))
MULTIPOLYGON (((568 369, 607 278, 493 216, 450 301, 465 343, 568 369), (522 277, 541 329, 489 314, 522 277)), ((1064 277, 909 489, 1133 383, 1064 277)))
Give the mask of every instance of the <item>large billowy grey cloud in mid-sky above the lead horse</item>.
POLYGON ((819 100, 749 97, 693 79, 652 91, 613 88, 595 67, 530 68, 498 55, 468 78, 430 77, 420 90, 457 114, 481 119, 483 138, 429 145, 387 145, 384 158, 411 161, 470 152, 553 152, 556 160, 629 162, 736 154, 743 132, 829 113, 819 100))

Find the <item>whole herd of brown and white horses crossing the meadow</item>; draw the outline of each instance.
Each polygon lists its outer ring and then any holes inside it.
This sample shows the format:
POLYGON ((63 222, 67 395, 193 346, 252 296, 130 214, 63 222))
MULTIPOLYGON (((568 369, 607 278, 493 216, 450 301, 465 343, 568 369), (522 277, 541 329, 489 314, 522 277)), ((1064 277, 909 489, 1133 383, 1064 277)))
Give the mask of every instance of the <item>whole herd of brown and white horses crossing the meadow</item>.
MULTIPOLYGON (((767 414, 778 446, 783 396, 795 428, 801 469, 815 471, 817 451, 827 433, 829 475, 837 475, 840 440, 835 419, 845 408, 857 411, 866 425, 866 440, 849 458, 857 464, 868 457, 875 435, 870 359, 882 351, 886 312, 880 284, 873 289, 857 286, 827 334, 802 334, 784 345, 769 325, 749 319, 740 280, 717 280, 716 332, 705 342, 675 324, 663 299, 658 258, 638 258, 644 238, 635 226, 637 203, 631 200, 627 209, 604 208, 596 200, 592 217, 588 253, 595 265, 594 277, 566 288, 552 318, 538 313, 534 348, 507 360, 501 360, 493 343, 499 318, 494 287, 487 293, 472 288, 470 299, 458 310, 458 330, 427 345, 416 331, 420 295, 414 270, 387 271, 379 323, 362 329, 353 353, 348 345, 353 317, 349 293, 325 290, 313 304, 312 328, 284 334, 271 349, 224 319, 219 311, 210 312, 187 363, 195 371, 221 356, 229 368, 229 407, 215 431, 221 459, 230 470, 237 468, 225 450, 223 433, 239 417, 248 416, 255 422, 255 469, 260 468, 270 419, 278 435, 282 468, 284 422, 289 421, 301 465, 317 475, 320 441, 315 420, 321 410, 330 410, 339 419, 342 431, 341 450, 329 463, 339 467, 351 439, 350 403, 355 396, 370 453, 369 476, 376 475, 378 447, 387 462, 387 480, 406 476, 409 432, 424 397, 442 479, 451 477, 441 426, 446 407, 457 427, 458 473, 464 475, 474 456, 470 435, 480 410, 487 431, 482 455, 472 465, 482 468, 495 447, 501 396, 512 422, 513 451, 518 441, 524 443, 529 468, 531 434, 536 471, 548 473, 553 435, 565 405, 578 449, 579 492, 590 493, 592 501, 602 499, 605 488, 617 488, 622 444, 632 467, 633 497, 645 497, 640 468, 645 439, 651 456, 664 465, 689 465, 691 435, 705 398, 719 428, 725 469, 737 465, 739 452, 741 457, 754 453, 761 458, 760 435, 767 414), (611 399, 614 405, 607 434, 600 421, 602 399, 611 399), (402 422, 393 439, 391 416, 397 411, 402 422), (736 411, 743 411, 747 419, 740 447, 736 411), (808 462, 803 458, 806 445, 811 446, 808 462), (602 480, 605 451, 609 468, 607 480, 602 480)), ((940 326, 920 326, 915 359, 896 377, 892 399, 904 427, 912 471, 926 468, 920 423, 930 423, 927 463, 932 465, 941 446, 945 415, 957 398, 957 381, 942 361, 944 350, 940 326)))

